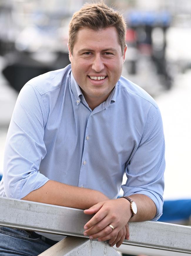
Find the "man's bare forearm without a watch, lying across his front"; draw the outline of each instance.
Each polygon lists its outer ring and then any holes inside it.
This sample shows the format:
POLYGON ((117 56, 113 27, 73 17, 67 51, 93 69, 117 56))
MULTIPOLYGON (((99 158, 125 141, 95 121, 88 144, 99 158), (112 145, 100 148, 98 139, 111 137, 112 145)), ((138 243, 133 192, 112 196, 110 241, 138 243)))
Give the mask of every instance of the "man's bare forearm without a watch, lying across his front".
POLYGON ((22 199, 78 209, 88 209, 100 201, 108 200, 99 191, 74 187, 53 180, 49 180, 22 199))

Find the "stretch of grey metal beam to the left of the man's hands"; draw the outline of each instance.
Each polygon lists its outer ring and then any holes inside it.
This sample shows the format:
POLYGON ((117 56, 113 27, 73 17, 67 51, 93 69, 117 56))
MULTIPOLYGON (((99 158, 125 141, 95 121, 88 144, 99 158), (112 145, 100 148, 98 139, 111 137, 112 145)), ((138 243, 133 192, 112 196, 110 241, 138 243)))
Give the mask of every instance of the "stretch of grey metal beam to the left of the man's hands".
POLYGON ((80 209, 0 197, 1 226, 84 237, 90 219, 80 209))

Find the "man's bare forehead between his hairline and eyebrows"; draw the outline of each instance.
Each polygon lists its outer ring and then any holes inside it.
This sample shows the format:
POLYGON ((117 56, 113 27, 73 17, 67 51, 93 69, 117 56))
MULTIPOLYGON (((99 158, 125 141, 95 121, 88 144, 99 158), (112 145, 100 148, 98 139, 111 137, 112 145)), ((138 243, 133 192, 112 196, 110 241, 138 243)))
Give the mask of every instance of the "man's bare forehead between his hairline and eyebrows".
POLYGON ((115 27, 108 27, 100 30, 93 30, 87 27, 81 27, 76 35, 74 50, 83 48, 115 48, 120 49, 118 42, 118 33, 115 27))

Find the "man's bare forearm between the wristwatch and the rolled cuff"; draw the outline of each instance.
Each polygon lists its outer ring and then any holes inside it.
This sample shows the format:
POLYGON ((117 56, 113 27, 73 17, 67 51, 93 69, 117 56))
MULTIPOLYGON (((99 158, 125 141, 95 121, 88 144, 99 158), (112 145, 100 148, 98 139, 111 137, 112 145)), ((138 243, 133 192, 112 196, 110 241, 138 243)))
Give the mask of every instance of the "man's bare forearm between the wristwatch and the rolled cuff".
MULTIPOLYGON (((137 214, 130 218, 130 222, 136 222, 136 221, 148 221, 155 217, 156 215, 156 206, 152 199, 150 199, 146 195, 142 194, 134 194, 129 196, 133 201, 135 201, 137 205, 137 214)), ((121 198, 123 199, 123 198, 121 198)), ((125 199, 125 198, 124 198, 125 199)), ((126 199, 125 199, 126 200, 126 199)), ((128 200, 126 200, 126 203, 128 200)))

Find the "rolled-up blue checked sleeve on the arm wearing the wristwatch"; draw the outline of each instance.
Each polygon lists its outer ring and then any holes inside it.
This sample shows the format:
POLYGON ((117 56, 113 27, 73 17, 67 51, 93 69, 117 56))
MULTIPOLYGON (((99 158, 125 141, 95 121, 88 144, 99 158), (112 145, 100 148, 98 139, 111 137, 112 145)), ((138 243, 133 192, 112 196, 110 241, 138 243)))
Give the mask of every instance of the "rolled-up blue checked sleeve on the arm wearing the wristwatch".
POLYGON ((153 221, 162 215, 165 170, 165 141, 162 118, 158 108, 151 108, 140 144, 128 162, 127 182, 122 185, 124 196, 147 195, 155 203, 153 221))

